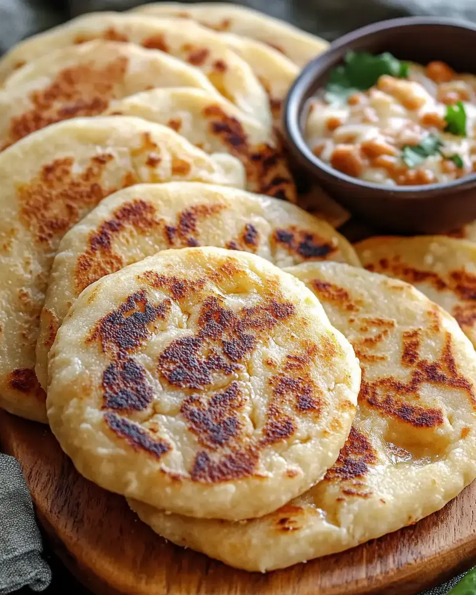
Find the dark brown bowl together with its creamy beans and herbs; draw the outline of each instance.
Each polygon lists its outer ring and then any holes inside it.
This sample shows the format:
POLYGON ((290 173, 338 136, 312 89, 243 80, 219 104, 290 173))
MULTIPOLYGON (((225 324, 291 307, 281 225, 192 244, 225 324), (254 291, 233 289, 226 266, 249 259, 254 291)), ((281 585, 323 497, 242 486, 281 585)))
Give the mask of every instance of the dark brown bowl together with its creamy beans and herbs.
POLYGON ((476 26, 410 17, 340 37, 290 89, 292 155, 379 230, 476 218, 476 26))

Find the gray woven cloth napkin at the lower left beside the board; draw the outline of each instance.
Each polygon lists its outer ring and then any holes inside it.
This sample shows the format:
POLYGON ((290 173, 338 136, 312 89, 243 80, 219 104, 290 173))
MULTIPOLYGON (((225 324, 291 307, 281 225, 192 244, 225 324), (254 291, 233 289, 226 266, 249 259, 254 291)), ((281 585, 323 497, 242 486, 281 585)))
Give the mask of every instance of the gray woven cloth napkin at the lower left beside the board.
POLYGON ((0 454, 0 595, 29 585, 43 591, 51 581, 41 558, 42 542, 21 468, 0 454))

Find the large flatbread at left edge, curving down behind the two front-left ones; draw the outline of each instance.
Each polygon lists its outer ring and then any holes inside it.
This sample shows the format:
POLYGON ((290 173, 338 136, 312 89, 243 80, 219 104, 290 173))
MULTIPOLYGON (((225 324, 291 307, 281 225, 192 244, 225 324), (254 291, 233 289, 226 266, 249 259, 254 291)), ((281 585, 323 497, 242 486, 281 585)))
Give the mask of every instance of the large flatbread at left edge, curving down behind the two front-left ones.
POLYGON ((76 118, 0 154, 0 406, 46 421, 35 372, 39 315, 61 237, 105 196, 137 182, 243 186, 230 155, 206 155, 173 130, 126 117, 76 118))

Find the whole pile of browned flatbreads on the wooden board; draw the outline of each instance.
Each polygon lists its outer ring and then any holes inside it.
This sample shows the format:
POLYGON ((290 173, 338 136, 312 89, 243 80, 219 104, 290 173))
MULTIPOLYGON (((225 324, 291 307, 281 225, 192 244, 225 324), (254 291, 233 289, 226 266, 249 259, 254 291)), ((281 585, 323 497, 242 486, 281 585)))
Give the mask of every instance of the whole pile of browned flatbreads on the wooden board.
POLYGON ((0 406, 160 536, 248 571, 476 477, 474 230, 354 248, 297 206, 280 106, 324 48, 161 3, 0 61, 0 406))

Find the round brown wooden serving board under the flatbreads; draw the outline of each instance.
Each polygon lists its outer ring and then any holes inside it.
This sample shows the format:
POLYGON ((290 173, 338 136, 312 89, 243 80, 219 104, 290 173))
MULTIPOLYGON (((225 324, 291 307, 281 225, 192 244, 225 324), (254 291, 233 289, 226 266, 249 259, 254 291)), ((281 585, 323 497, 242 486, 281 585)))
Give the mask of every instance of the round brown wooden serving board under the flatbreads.
POLYGON ((0 411, 0 441, 20 461, 54 549, 96 595, 410 595, 476 563, 476 482, 412 527, 259 574, 158 537, 123 497, 81 477, 45 426, 0 411))

